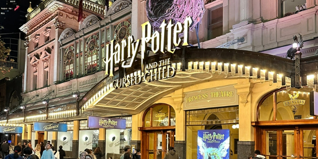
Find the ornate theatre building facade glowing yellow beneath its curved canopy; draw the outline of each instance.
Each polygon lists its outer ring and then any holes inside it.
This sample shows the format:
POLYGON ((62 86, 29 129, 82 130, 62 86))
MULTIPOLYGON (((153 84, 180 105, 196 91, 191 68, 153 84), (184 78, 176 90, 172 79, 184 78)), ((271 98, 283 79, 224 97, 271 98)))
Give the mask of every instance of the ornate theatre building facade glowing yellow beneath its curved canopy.
POLYGON ((142 30, 146 3, 117 0, 105 13, 100 1, 84 1, 78 24, 78 1, 42 2, 20 28, 27 35, 24 109, 9 110, 0 122, 22 124, 22 140, 33 145, 65 143, 69 157, 99 146, 116 158, 126 144, 151 159, 164 158, 169 146, 181 158, 243 159, 255 149, 266 158, 315 157, 318 120, 309 108, 318 2, 206 1, 198 37, 190 32, 194 46, 141 51, 132 59, 138 39, 157 34, 142 30), (285 58, 293 35, 304 41, 295 60, 285 58), (151 82, 137 82, 141 76, 151 82), (125 118, 126 129, 90 128, 88 116, 125 118), (66 123, 68 131, 34 131, 34 122, 66 123), (199 130, 220 129, 229 132, 222 150, 198 139, 199 130))

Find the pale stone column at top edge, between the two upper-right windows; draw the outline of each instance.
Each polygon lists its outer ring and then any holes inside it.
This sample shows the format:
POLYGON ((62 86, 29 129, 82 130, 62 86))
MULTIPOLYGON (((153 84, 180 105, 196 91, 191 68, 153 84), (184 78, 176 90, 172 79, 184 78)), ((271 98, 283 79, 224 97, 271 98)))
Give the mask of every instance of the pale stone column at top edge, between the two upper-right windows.
POLYGON ((241 22, 253 20, 253 1, 241 0, 241 22))

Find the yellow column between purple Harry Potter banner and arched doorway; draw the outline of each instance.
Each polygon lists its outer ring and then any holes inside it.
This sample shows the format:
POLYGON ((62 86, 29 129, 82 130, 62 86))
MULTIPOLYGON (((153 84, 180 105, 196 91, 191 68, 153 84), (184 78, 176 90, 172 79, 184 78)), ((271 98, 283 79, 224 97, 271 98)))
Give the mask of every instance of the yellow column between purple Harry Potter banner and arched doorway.
POLYGON ((140 141, 140 131, 138 130, 138 127, 141 125, 139 123, 142 123, 142 115, 135 114, 131 117, 131 141, 130 144, 134 145, 136 149, 141 148, 141 141, 140 141))

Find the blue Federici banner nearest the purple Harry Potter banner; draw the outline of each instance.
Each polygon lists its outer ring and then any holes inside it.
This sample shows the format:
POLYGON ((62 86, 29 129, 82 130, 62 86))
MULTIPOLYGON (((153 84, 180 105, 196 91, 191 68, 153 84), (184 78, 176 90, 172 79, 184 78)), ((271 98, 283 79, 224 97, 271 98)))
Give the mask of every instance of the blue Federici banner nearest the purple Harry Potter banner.
POLYGON ((67 124, 34 122, 34 131, 67 132, 67 124))

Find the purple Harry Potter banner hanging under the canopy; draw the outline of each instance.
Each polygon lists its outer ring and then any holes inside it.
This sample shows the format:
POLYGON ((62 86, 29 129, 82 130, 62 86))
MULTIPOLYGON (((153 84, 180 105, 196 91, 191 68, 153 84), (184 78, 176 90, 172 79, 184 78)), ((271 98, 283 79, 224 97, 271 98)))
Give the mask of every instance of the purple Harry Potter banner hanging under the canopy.
POLYGON ((126 119, 89 116, 88 127, 105 129, 126 129, 126 119))

